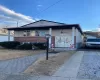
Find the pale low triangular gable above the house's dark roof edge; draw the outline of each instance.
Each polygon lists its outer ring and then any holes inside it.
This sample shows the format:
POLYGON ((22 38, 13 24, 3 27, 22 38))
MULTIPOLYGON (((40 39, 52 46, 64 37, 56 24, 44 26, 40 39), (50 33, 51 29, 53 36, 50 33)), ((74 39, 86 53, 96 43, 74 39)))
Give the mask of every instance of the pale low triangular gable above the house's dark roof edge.
POLYGON ((57 26, 57 25, 65 25, 64 23, 57 23, 52 21, 40 20, 37 22, 33 22, 22 27, 43 27, 43 26, 57 26))

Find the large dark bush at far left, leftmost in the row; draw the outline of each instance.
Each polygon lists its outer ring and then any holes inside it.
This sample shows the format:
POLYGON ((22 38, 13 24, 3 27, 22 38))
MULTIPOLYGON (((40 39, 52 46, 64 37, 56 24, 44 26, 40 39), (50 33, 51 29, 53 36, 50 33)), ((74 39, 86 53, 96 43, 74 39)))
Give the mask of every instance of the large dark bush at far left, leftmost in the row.
POLYGON ((18 45, 20 45, 20 42, 17 42, 17 41, 0 42, 0 46, 7 48, 7 49, 15 49, 16 46, 18 45))

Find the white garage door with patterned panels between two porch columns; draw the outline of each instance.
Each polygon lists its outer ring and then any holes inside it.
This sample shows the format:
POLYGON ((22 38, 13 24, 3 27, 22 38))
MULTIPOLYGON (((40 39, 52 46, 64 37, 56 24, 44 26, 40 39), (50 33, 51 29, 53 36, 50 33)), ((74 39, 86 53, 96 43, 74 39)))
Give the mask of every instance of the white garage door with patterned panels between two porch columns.
POLYGON ((70 47, 71 36, 56 36, 55 47, 70 47))

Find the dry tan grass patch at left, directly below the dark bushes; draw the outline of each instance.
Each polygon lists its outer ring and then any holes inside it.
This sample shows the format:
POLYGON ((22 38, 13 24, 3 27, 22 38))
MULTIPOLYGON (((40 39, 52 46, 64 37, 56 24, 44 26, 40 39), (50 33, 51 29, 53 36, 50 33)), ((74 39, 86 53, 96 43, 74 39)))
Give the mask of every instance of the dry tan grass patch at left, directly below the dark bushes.
POLYGON ((7 50, 0 49, 0 60, 7 60, 13 58, 19 58, 24 56, 31 56, 35 54, 44 53, 44 50, 7 50))

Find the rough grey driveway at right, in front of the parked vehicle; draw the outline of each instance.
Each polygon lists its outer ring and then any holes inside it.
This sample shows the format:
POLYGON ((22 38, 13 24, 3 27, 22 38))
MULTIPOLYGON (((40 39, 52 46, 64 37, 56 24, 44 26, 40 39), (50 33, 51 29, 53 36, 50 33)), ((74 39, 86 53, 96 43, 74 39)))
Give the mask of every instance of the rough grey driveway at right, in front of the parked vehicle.
POLYGON ((100 80, 100 51, 85 51, 77 77, 100 80))

